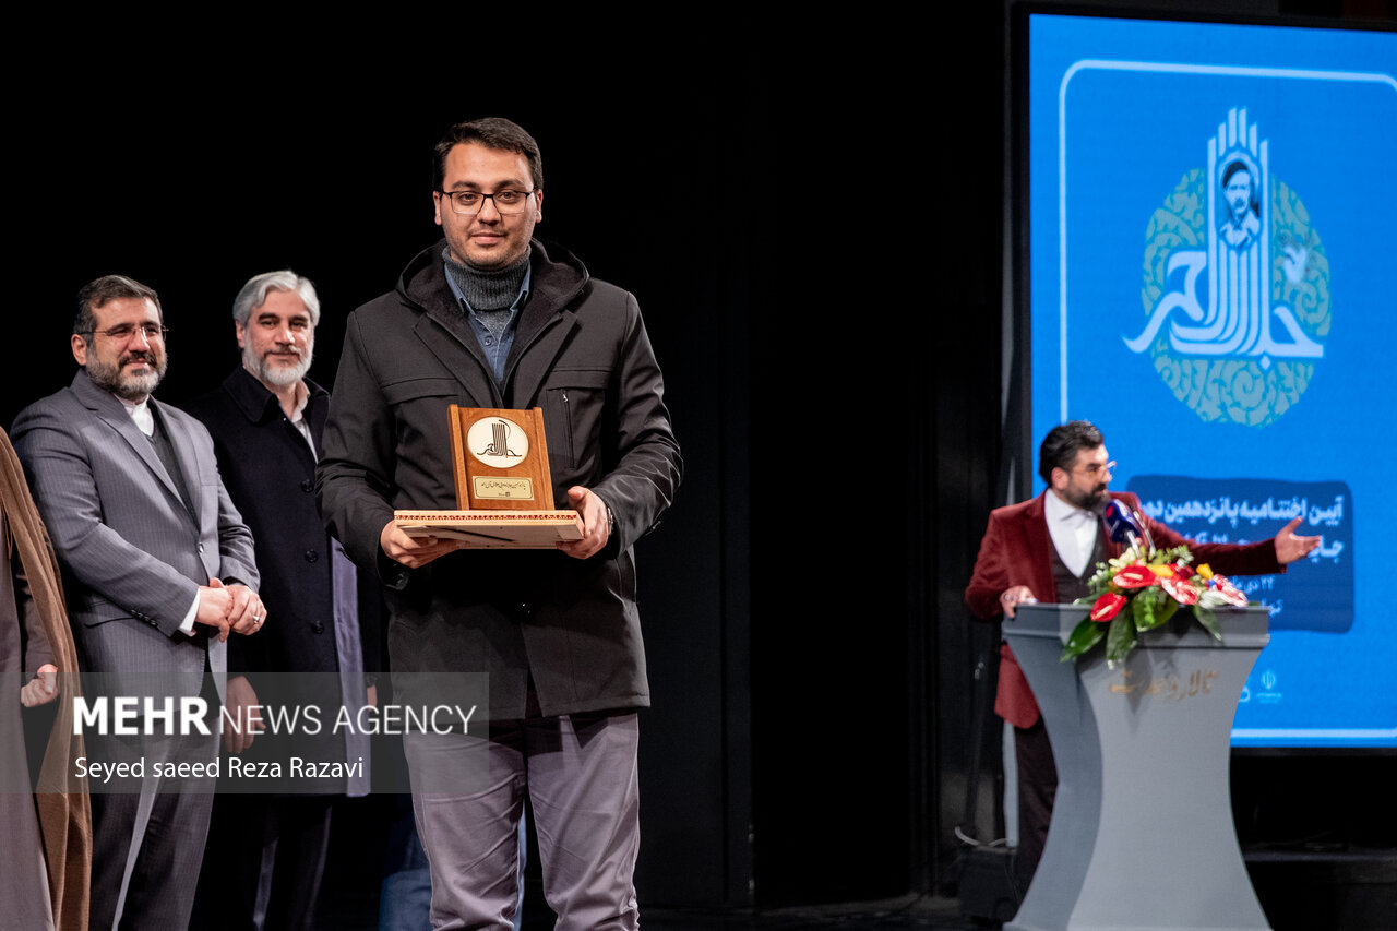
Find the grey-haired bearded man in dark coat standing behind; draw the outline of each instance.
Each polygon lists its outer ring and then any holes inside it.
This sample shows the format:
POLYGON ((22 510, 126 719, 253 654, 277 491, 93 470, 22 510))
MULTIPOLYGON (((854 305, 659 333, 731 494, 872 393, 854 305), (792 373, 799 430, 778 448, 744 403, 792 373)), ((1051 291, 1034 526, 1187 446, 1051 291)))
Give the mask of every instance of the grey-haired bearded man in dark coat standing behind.
MULTIPOLYGON (((307 278, 289 270, 253 277, 233 301, 240 365, 187 405, 214 438, 228 493, 253 528, 261 593, 277 618, 261 636, 229 649, 232 714, 225 719, 246 721, 253 706, 272 705, 316 707, 330 721, 341 706, 358 714, 373 700, 365 656, 377 668, 379 596, 370 590, 360 597, 355 569, 316 507, 316 459, 330 410, 328 393, 306 376, 319 320, 320 299, 307 278)), ((225 727, 224 749, 243 760, 284 767, 293 755, 338 760, 351 776, 285 787, 293 797, 221 794, 200 878, 197 927, 261 927, 254 916, 265 916, 270 928, 310 927, 331 800, 369 788, 367 737, 353 728, 331 731, 225 727), (355 766, 359 759, 365 765, 355 766)))

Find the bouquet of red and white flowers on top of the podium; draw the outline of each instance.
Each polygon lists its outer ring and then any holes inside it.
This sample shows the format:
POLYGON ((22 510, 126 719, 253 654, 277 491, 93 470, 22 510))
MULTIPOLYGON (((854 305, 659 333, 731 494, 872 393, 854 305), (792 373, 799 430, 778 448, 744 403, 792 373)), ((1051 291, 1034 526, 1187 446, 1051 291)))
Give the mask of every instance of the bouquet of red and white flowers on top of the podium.
POLYGON ((1097 563, 1097 575, 1087 583, 1091 594, 1078 600, 1090 602, 1091 612, 1067 637, 1063 661, 1105 640, 1106 663, 1115 667, 1130 656, 1140 632, 1172 618, 1179 605, 1193 608, 1199 623, 1221 640, 1222 628, 1214 611, 1227 605, 1245 608, 1246 596, 1207 563, 1194 572, 1190 562, 1193 554, 1187 547, 1151 548, 1148 555, 1132 547, 1109 562, 1097 563))

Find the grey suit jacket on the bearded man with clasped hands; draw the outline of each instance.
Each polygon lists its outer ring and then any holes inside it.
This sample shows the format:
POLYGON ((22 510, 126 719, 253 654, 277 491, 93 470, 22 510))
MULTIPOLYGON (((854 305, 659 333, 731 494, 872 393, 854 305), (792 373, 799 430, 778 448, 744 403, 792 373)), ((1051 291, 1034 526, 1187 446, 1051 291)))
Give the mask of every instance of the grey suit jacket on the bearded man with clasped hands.
POLYGON ((31 404, 11 436, 63 566, 85 672, 116 693, 198 695, 207 651, 224 698, 226 650, 208 628, 179 630, 211 577, 256 590, 253 535, 218 477, 208 431, 152 398, 191 507, 122 403, 80 369, 31 404))

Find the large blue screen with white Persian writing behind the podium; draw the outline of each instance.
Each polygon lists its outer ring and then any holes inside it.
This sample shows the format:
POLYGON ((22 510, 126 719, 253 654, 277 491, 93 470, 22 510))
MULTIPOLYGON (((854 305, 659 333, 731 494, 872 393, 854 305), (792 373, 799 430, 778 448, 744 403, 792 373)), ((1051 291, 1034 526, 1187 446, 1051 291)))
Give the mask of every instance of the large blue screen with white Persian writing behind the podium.
MULTIPOLYGON (((1234 745, 1397 746, 1397 35, 1032 15, 1031 435, 1091 419, 1248 580, 1234 745)), ((1039 482, 1041 489, 1041 482, 1039 482)))

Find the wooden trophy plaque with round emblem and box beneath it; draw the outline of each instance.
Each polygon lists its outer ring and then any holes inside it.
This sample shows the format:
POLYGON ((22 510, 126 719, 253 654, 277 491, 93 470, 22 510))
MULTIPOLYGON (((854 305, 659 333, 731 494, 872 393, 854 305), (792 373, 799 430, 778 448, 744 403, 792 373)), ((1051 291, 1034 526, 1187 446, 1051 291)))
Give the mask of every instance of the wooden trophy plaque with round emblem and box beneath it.
POLYGON ((552 549, 581 540, 576 510, 555 510, 543 411, 453 404, 451 471, 460 510, 400 510, 414 537, 464 540, 472 547, 552 549))

